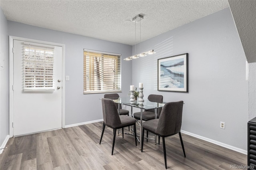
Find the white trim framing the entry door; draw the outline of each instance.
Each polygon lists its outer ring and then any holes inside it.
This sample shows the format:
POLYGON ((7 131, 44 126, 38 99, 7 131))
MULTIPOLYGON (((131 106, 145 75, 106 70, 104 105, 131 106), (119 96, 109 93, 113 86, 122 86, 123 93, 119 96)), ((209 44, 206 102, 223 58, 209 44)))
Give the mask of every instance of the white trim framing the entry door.
POLYGON ((13 48, 14 40, 49 44, 49 45, 55 45, 55 46, 62 47, 62 128, 65 128, 65 44, 9 36, 9 136, 13 137, 12 123, 13 123, 13 104, 14 103, 13 103, 12 86, 13 86, 13 57, 14 57, 14 54, 12 52, 12 48, 13 48))

